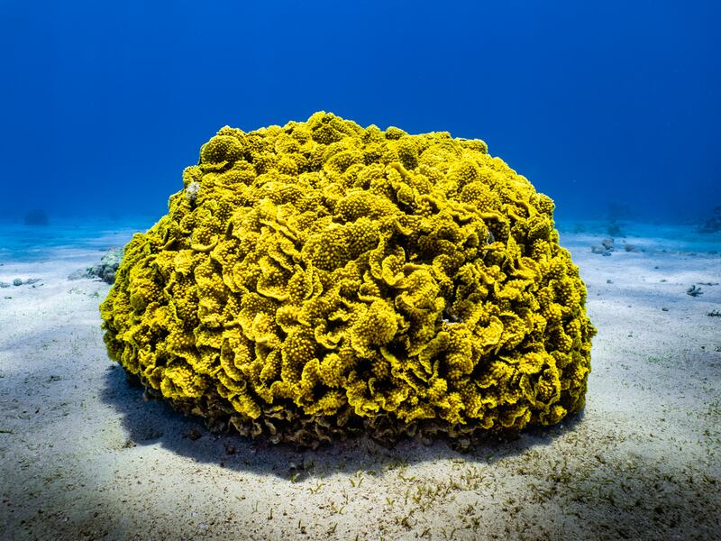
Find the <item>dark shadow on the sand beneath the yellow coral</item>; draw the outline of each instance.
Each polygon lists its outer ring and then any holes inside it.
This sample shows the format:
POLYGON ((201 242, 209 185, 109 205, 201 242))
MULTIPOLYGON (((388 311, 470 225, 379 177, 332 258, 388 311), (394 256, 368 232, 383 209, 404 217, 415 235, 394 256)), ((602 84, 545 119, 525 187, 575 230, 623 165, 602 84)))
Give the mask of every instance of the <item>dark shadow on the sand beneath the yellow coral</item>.
POLYGON ((128 433, 126 447, 160 444, 169 452, 187 456, 198 463, 215 463, 235 471, 274 474, 292 481, 302 481, 322 473, 383 470, 394 464, 452 458, 462 458, 470 463, 495 463, 523 454, 534 446, 549 445, 555 437, 575 430, 583 419, 583 411, 580 411, 564 420, 561 426, 532 427, 514 439, 481 436, 462 452, 454 450, 453 442, 448 438, 433 442, 408 438, 393 447, 385 447, 362 436, 333 441, 314 450, 271 444, 263 437, 251 439, 237 433, 209 432, 201 417, 184 416, 165 401, 144 399, 143 388, 128 381, 125 371, 117 364, 105 372, 101 399, 122 417, 123 427, 128 433))

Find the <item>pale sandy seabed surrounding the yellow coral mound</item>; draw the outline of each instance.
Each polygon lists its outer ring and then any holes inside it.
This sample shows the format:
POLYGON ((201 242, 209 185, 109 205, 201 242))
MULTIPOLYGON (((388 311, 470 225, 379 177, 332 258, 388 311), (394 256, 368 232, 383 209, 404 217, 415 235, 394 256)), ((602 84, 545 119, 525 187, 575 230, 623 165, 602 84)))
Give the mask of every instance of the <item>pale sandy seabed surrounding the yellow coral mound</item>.
POLYGON ((0 289, 3 540, 721 539, 721 235, 628 225, 604 257, 598 225, 561 229, 598 327, 587 406, 459 453, 297 452, 143 401, 105 352, 109 286, 67 278, 130 230, 33 231, 0 228, 0 281, 40 279, 0 289))

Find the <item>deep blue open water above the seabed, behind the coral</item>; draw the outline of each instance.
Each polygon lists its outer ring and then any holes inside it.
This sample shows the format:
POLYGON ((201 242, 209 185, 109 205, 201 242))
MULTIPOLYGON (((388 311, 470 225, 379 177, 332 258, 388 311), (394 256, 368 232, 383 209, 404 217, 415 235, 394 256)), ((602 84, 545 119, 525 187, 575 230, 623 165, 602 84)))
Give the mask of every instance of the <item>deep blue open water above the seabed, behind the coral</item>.
POLYGON ((0 2, 0 217, 160 217, 218 128, 317 110, 483 139, 561 217, 721 204, 721 3, 106 4, 0 2))

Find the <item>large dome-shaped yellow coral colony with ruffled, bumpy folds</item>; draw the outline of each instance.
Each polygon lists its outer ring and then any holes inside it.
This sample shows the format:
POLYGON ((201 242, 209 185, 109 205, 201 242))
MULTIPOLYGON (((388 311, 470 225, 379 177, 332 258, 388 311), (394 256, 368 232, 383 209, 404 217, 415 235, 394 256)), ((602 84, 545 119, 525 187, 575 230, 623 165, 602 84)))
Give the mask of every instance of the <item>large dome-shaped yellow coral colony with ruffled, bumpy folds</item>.
POLYGON ((222 128, 100 307, 110 356, 215 426, 333 434, 550 425, 595 334, 553 202, 484 142, 316 113, 222 128))

